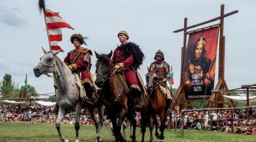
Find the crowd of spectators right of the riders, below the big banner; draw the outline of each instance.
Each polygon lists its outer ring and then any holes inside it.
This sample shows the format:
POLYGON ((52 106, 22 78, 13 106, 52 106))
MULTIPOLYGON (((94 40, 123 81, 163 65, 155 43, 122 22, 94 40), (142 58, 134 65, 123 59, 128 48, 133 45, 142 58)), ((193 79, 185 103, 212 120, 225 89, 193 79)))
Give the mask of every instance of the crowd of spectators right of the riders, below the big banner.
MULTIPOLYGON (((249 108, 248 110, 236 110, 232 113, 230 110, 216 111, 191 111, 184 112, 184 128, 196 130, 210 130, 219 132, 232 132, 232 122, 234 133, 241 135, 256 135, 255 131, 255 112, 249 108)), ((175 111, 172 115, 173 126, 177 120, 177 128, 181 126, 180 112, 175 111)))

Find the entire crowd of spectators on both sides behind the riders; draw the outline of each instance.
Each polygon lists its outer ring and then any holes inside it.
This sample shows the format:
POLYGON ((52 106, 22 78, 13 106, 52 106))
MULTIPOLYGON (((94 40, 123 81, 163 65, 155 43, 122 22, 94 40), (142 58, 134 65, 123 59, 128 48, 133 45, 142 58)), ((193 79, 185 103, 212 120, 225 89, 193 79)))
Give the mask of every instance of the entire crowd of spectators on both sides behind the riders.
MULTIPOLYGON (((41 122, 41 123, 55 123, 57 120, 56 106, 23 106, 23 105, 2 105, 0 106, 0 122, 41 122)), ((173 128, 177 120, 177 128, 181 126, 181 117, 179 109, 176 109, 172 115, 173 128)), ((197 130, 211 130, 220 132, 232 132, 232 122, 234 133, 241 135, 256 135, 255 131, 255 111, 236 110, 232 113, 229 110, 216 111, 191 111, 185 112, 184 128, 197 130)), ((139 116, 139 115, 138 115, 139 116)), ((129 120, 126 120, 129 125, 129 120)), ((62 120, 61 124, 74 124, 75 112, 68 112, 62 120)), ((110 126, 110 120, 104 118, 104 126, 110 126)), ((87 110, 81 111, 80 124, 88 125, 94 124, 90 119, 87 110)))

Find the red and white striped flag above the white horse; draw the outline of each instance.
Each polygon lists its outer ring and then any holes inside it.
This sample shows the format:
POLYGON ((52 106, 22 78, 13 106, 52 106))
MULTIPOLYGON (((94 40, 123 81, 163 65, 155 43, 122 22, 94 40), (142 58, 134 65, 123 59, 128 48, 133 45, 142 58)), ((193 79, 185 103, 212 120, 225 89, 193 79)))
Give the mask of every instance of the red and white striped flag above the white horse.
POLYGON ((57 12, 46 9, 44 10, 44 15, 46 16, 46 26, 51 44, 51 50, 57 51, 60 49, 61 52, 64 52, 63 49, 61 49, 57 44, 57 41, 62 40, 61 28, 71 28, 72 30, 74 28, 65 22, 57 12))

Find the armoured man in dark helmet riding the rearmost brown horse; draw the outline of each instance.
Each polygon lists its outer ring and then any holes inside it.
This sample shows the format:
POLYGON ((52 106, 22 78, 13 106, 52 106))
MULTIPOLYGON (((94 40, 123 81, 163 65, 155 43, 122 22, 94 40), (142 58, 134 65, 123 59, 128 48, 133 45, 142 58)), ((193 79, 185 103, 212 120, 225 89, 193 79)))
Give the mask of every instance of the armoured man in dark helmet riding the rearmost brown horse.
POLYGON ((152 72, 152 70, 158 70, 157 71, 157 75, 159 77, 160 80, 160 87, 162 87, 165 93, 167 95, 167 114, 168 115, 172 115, 172 111, 171 111, 171 102, 172 102, 172 98, 171 98, 171 91, 168 89, 167 83, 166 81, 170 78, 171 74, 170 74, 170 65, 164 61, 164 54, 162 51, 160 51, 160 49, 158 50, 158 52, 155 53, 155 57, 154 59, 156 61, 152 62, 150 65, 149 70, 152 72))

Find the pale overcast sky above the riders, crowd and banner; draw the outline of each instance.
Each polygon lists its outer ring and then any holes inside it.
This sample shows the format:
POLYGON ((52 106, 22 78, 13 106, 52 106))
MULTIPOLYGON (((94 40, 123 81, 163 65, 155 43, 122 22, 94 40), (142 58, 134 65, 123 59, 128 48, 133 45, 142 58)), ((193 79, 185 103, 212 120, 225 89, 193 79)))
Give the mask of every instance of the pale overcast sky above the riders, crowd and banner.
MULTIPOLYGON (((109 53, 119 44, 117 33, 125 30, 129 41, 140 45, 146 55, 140 70, 142 77, 147 72, 146 66, 154 61, 155 52, 161 49, 166 61, 173 66, 176 88, 180 84, 183 32, 175 34, 173 31, 184 27, 184 18, 188 18, 188 26, 192 26, 220 16, 221 4, 225 5, 225 14, 239 11, 224 20, 225 80, 229 88, 256 83, 256 1, 46 0, 47 9, 60 12, 60 16, 75 28, 62 30, 63 41, 59 45, 65 52, 59 53, 60 59, 74 49, 69 40, 72 34, 88 36, 86 48, 109 53)), ((216 23, 219 21, 201 27, 216 23)), ((191 30, 197 28, 200 27, 191 30)), ((0 81, 8 73, 20 87, 27 73, 28 84, 35 86, 39 94, 54 92, 53 78, 44 75, 36 78, 33 73, 43 55, 41 47, 49 49, 45 29, 38 1, 0 1, 0 81)), ((92 64, 95 63, 96 56, 92 56, 92 64)), ((91 72, 95 72, 94 67, 91 72)), ((218 64, 215 84, 217 78, 218 64)))

